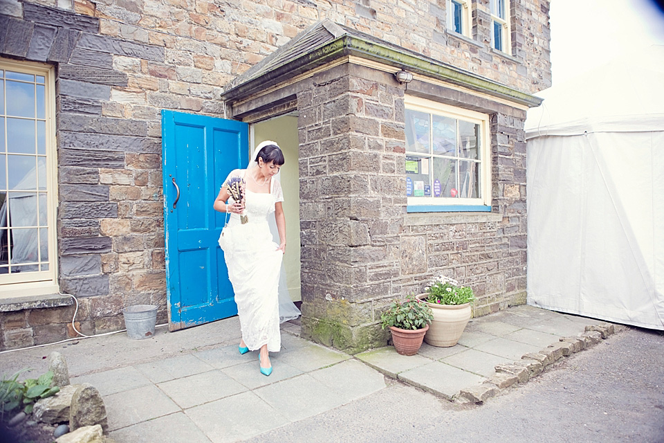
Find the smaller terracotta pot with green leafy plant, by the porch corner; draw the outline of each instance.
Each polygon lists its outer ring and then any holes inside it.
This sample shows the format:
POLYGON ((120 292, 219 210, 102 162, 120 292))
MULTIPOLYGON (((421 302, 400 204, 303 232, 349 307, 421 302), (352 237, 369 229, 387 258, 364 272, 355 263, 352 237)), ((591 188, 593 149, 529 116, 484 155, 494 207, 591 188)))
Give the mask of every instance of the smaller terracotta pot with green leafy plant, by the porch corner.
POLYGON ((382 329, 389 327, 392 344, 401 355, 415 355, 433 318, 431 308, 414 296, 405 301, 396 300, 380 316, 382 329))

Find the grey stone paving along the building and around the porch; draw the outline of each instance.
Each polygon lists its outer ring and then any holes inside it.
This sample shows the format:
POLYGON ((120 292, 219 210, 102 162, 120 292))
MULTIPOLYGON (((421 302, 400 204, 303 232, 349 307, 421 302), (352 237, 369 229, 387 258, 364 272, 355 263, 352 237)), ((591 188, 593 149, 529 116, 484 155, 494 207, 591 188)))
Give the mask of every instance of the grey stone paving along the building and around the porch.
POLYGON ((389 346, 351 356, 299 338, 299 325, 285 323, 282 351, 271 355, 274 372, 264 377, 257 352, 237 351, 237 326, 229 318, 142 341, 116 334, 22 350, 6 354, 3 371, 34 363, 39 370, 41 355, 59 350, 68 354, 71 382, 102 394, 116 442, 221 443, 349 404, 385 388, 385 377, 481 403, 613 332, 598 320, 519 306, 471 320, 454 347, 424 344, 417 355, 400 356, 389 346))

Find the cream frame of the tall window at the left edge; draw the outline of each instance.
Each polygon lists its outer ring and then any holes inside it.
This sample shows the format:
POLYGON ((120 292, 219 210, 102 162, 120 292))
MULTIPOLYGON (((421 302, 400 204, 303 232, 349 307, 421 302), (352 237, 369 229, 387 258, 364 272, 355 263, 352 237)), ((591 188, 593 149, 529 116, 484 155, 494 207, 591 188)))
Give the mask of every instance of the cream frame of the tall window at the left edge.
MULTIPOLYGON (((48 227, 48 271, 34 271, 15 274, 0 274, 0 298, 16 296, 42 296, 59 293, 57 284, 57 158, 55 141, 55 69, 41 63, 15 62, 0 57, 0 69, 44 76, 44 101, 46 120, 46 220, 48 227)), ((4 112, 7 109, 7 97, 4 112)), ((5 114, 3 114, 5 116, 5 114)), ((7 143, 6 118, 5 145, 7 143)), ((6 168, 6 165, 3 165, 6 168)))

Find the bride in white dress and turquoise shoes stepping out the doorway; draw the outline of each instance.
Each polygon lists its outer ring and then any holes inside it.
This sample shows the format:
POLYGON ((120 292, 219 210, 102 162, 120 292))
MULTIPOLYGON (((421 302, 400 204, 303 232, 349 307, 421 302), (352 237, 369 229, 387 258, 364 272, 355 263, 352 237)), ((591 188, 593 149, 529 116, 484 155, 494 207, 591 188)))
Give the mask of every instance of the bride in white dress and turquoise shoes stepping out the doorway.
MULTIPOLYGON (((284 194, 275 176, 283 164, 284 154, 277 143, 261 143, 246 170, 230 172, 214 201, 215 210, 230 213, 230 221, 219 237, 219 246, 223 249, 240 319, 239 352, 260 350, 260 371, 264 375, 272 373, 268 352, 278 352, 281 348, 279 299, 288 298, 286 305, 292 305, 288 318, 299 314, 288 294, 282 297, 278 289, 286 252, 286 217, 282 207, 284 194), (242 179, 245 186, 243 201, 235 201, 229 191, 229 184, 237 179, 242 179), (245 223, 241 215, 246 216, 243 217, 245 223), (279 244, 273 241, 270 222, 276 223, 279 244)), ((288 314, 282 313, 282 318, 284 315, 288 314)))

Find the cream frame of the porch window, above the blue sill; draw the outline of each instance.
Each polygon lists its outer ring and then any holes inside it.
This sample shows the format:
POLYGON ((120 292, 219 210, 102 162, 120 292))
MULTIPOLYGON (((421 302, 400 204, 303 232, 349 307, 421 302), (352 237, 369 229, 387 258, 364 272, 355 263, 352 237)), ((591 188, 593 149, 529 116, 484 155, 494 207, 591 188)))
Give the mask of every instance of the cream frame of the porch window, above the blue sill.
MULTIPOLYGON (((424 98, 405 96, 405 109, 450 117, 480 125, 480 197, 407 197, 408 212, 490 211, 491 208, 491 134, 490 118, 469 109, 462 109, 424 98)), ((406 122, 407 123, 407 122, 406 122)), ((406 156, 411 154, 406 151, 406 156)), ((431 165, 433 167, 433 165, 431 165)))

